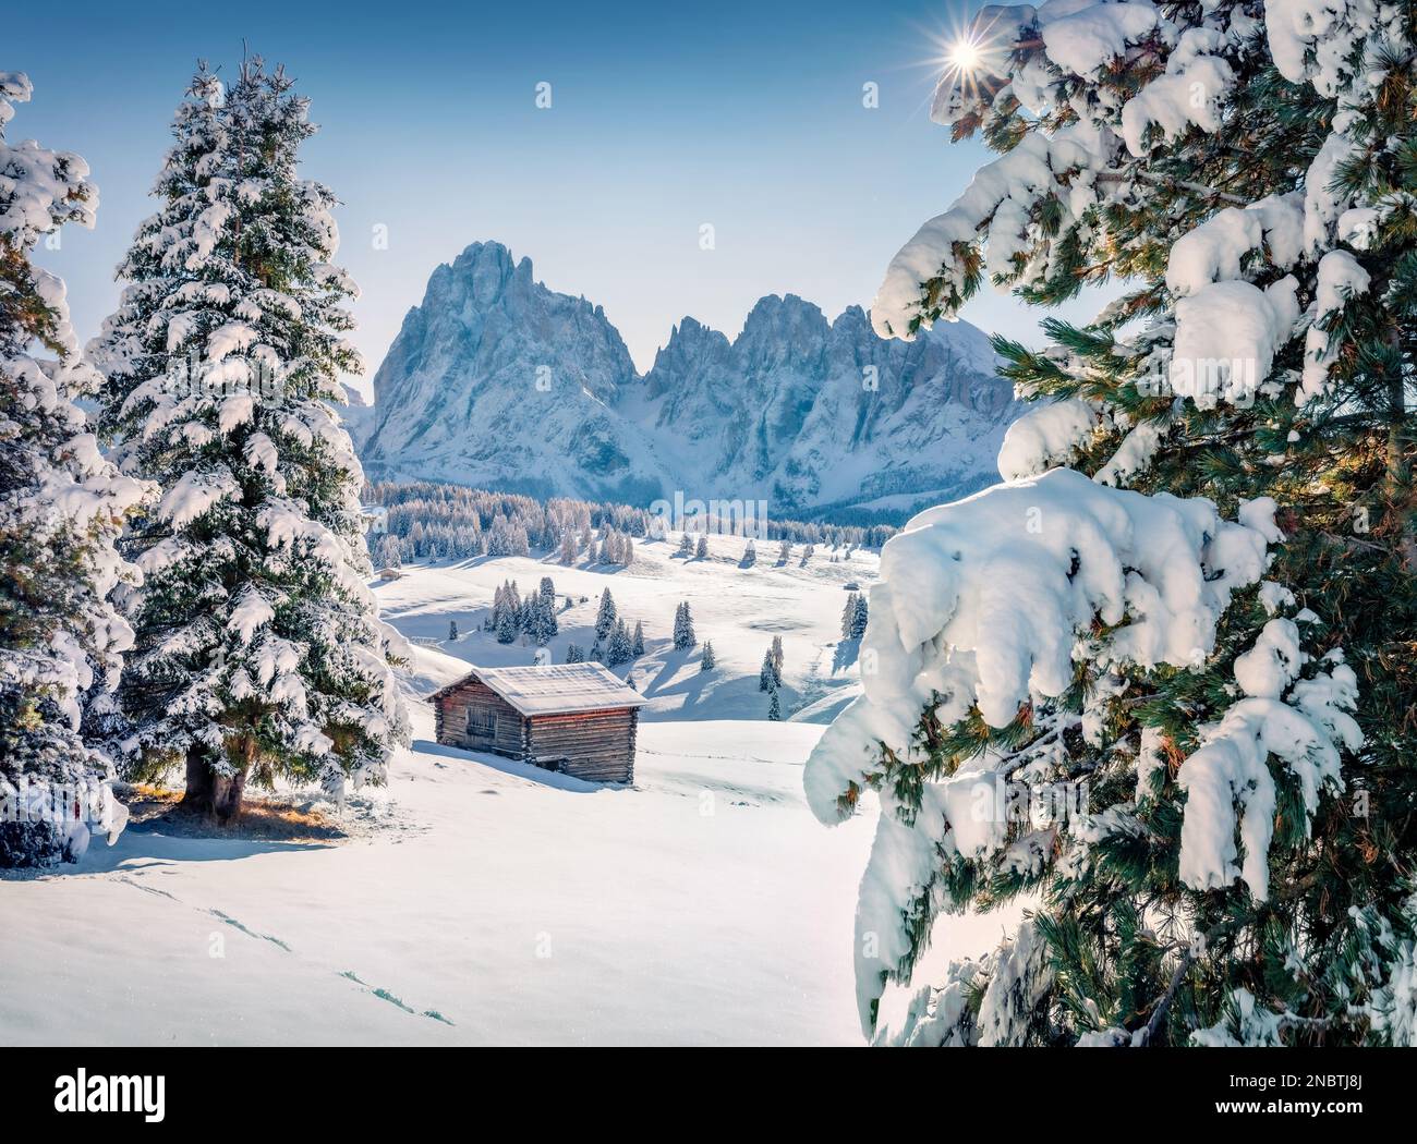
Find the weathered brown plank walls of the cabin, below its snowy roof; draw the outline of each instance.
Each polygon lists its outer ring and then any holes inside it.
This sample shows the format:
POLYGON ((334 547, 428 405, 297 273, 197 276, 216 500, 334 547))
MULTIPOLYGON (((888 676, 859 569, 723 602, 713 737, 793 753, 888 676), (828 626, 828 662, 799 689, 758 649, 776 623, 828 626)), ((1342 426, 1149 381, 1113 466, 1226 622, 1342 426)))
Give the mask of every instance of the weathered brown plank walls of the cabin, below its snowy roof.
POLYGON ((434 701, 436 738, 446 746, 486 750, 595 783, 635 782, 639 709, 577 711, 526 716, 478 680, 434 701), (489 716, 495 733, 486 733, 489 716))

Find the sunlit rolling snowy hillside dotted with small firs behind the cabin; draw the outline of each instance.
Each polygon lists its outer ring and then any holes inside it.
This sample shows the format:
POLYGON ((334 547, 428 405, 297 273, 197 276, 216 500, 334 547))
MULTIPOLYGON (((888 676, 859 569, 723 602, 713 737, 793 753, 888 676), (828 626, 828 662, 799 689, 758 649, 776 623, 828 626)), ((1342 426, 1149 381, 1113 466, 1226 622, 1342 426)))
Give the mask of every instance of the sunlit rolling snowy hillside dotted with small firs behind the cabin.
POLYGON ((826 723, 860 692, 856 643, 840 639, 842 607, 847 585, 867 588, 877 573, 876 554, 819 548, 802 564, 798 547, 786 564, 778 562, 779 545, 758 542, 758 559, 740 566, 744 541, 708 537, 704 559, 676 555, 679 534, 663 541, 636 541, 629 568, 587 565, 564 568, 551 559, 503 556, 453 565, 415 566, 376 592, 381 614, 404 634, 436 640, 444 661, 421 660, 422 681, 431 691, 446 682, 446 673, 461 664, 483 667, 530 664, 534 648, 499 644, 480 624, 492 597, 504 580, 516 580, 526 595, 543 576, 555 583, 558 634, 548 643, 554 663, 565 660, 568 644, 589 648, 595 641, 595 616, 601 592, 609 589, 619 616, 629 627, 645 626, 645 656, 615 668, 631 677, 649 701, 642 718, 656 719, 762 719, 767 695, 758 691, 758 668, 774 636, 782 637, 782 715, 799 722, 826 723), (833 562, 833 556, 837 559, 833 562), (575 603, 564 609, 564 597, 575 603), (581 602, 584 597, 584 602, 581 602), (673 647, 674 607, 689 600, 699 647, 673 647), (456 623, 459 639, 448 640, 456 623), (717 667, 701 673, 703 644, 713 641, 717 667))

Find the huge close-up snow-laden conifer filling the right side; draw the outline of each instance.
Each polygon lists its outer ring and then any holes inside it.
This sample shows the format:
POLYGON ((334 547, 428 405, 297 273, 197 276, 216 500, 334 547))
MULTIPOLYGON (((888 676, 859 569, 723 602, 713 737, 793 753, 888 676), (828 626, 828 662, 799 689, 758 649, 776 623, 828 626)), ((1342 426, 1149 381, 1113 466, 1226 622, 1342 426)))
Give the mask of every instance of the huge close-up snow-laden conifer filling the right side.
POLYGON ((1053 0, 988 10, 941 82, 1000 156, 877 331, 985 279, 1125 292, 996 340, 1036 401, 1010 483, 886 545, 864 695, 806 769, 825 821, 881 800, 877 1038, 1417 1043, 1413 20, 1053 0), (913 980, 942 912, 1020 896, 995 953, 913 980))

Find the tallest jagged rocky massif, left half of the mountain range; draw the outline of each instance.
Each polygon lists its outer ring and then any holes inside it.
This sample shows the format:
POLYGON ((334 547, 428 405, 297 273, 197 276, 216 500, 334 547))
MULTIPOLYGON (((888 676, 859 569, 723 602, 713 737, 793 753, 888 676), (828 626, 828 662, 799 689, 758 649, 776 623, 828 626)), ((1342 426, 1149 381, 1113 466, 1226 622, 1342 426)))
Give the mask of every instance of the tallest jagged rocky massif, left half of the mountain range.
POLYGON ((599 306, 548 290, 506 246, 473 244, 428 280, 374 375, 370 476, 639 503, 663 473, 615 411, 639 388, 599 306))

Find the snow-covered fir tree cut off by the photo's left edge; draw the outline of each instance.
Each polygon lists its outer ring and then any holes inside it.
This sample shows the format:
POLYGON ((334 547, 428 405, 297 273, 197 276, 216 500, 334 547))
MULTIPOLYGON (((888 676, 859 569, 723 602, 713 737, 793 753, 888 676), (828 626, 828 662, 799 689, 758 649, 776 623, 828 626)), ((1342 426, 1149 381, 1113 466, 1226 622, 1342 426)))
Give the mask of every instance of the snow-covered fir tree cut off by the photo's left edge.
POLYGON ((75 404, 99 378, 64 283, 30 262, 41 235, 92 227, 98 207, 82 159, 6 137, 30 95, 28 76, 0 72, 0 866, 72 861, 91 827, 126 820, 112 759, 84 732, 108 722, 133 637, 108 602, 139 579, 115 541, 153 493, 101 456, 75 404))

